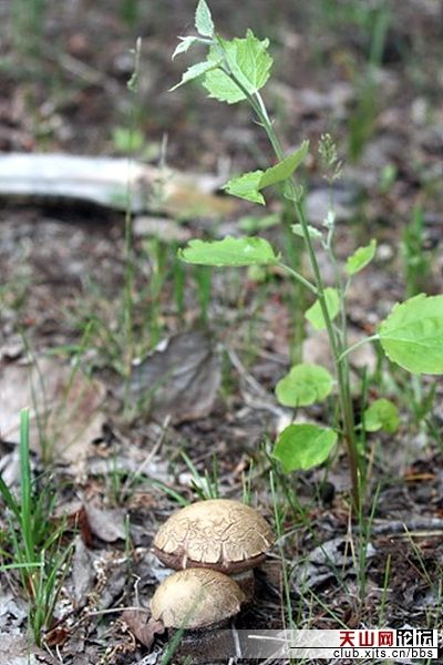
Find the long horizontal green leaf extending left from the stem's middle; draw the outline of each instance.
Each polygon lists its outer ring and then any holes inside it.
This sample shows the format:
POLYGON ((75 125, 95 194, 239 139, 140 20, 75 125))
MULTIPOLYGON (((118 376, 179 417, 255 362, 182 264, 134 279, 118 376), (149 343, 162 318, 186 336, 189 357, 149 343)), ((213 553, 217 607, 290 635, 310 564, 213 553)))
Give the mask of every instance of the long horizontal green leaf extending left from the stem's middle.
POLYGON ((202 266, 266 266, 278 260, 271 245, 259 237, 189 241, 187 247, 178 250, 178 256, 202 266))

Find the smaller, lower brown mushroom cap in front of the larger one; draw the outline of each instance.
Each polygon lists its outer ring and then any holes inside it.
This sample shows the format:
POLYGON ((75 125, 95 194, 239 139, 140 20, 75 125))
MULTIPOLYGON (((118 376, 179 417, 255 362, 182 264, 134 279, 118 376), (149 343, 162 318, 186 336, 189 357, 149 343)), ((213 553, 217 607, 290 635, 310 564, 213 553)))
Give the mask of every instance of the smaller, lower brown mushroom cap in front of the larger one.
POLYGON ((245 594, 234 580, 208 569, 167 577, 151 600, 151 613, 166 628, 202 628, 238 614, 245 594))

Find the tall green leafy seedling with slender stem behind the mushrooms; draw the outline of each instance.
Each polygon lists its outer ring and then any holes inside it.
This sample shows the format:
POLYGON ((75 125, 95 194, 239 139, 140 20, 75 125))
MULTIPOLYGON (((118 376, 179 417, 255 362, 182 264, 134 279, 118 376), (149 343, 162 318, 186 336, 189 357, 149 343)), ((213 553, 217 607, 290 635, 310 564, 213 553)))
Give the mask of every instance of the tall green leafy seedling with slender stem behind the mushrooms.
MULTIPOLYGON (((308 223, 303 206, 303 190, 295 172, 309 152, 308 141, 289 154, 285 154, 275 123, 269 116, 261 89, 270 76, 272 58, 268 51, 269 40, 258 39, 251 30, 244 38, 223 38, 215 29, 209 7, 198 2, 195 14, 197 34, 179 38, 173 58, 200 47, 206 58, 193 64, 172 90, 198 81, 209 98, 227 104, 246 103, 253 111, 255 122, 265 132, 274 163, 266 170, 244 173, 229 180, 225 191, 257 205, 266 205, 265 193, 278 186, 290 203, 293 224, 292 242, 303 243, 310 264, 310 275, 305 276, 285 262, 285 257, 265 238, 255 236, 225 237, 205 242, 192 239, 181 249, 179 257, 189 264, 216 267, 278 266, 289 279, 301 285, 315 299, 305 313, 315 329, 328 335, 333 375, 310 364, 299 364, 277 385, 279 401, 298 408, 324 400, 334 389, 338 392, 339 415, 332 427, 293 422, 277 438, 274 454, 285 472, 310 469, 327 461, 338 441, 346 446, 352 481, 353 508, 361 504, 364 489, 364 456, 359 451, 358 433, 351 400, 349 355, 360 344, 378 341, 383 352, 394 364, 412 374, 443 372, 443 296, 429 297, 419 294, 396 304, 379 325, 374 335, 358 345, 348 344, 347 295, 351 282, 374 258, 377 242, 359 247, 339 265, 334 252, 334 215, 331 211, 323 228, 308 223), (321 246, 336 268, 336 280, 326 285, 317 248, 321 246)), ((321 141, 321 156, 329 165, 329 177, 338 176, 340 165, 334 144, 329 136, 321 141)), ((372 415, 371 415, 372 417, 372 415)))

